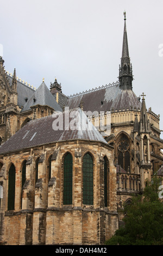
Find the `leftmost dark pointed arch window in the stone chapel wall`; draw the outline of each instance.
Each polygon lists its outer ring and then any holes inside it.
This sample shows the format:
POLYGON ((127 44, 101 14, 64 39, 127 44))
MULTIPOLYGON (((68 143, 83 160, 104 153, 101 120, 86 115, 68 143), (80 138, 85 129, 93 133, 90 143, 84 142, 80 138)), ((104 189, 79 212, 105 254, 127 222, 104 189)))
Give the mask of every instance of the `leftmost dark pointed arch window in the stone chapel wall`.
POLYGON ((8 177, 8 210, 15 209, 15 166, 11 164, 8 177))

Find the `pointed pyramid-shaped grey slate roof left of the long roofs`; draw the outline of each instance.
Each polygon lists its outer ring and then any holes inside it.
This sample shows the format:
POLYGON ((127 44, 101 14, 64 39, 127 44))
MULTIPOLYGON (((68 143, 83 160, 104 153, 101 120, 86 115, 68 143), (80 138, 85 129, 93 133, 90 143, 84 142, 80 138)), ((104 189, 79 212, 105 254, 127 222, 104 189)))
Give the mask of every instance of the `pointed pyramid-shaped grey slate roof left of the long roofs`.
POLYGON ((58 105, 57 101, 54 99, 53 95, 47 88, 45 82, 42 82, 39 88, 28 99, 21 112, 27 111, 30 109, 30 107, 35 105, 49 106, 55 111, 62 111, 61 107, 58 105))

